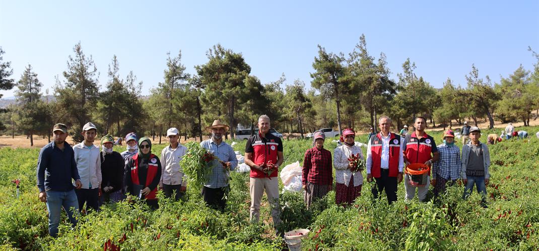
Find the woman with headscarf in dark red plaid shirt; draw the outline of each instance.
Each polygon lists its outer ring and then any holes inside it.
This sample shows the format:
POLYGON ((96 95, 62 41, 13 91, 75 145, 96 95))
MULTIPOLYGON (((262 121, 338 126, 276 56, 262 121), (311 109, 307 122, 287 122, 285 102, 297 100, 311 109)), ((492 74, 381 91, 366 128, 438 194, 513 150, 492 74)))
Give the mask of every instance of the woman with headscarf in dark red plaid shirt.
POLYGON ((301 182, 305 190, 305 204, 309 207, 314 199, 323 198, 333 186, 333 169, 331 169, 331 152, 324 149, 326 135, 315 132, 313 148, 305 152, 301 182))

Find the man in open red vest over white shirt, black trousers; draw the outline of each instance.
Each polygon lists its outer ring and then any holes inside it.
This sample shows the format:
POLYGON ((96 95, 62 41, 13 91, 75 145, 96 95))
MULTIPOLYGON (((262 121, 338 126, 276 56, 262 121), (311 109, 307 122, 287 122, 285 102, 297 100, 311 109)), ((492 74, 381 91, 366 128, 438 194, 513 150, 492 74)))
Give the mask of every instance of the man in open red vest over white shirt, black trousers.
POLYGON ((388 203, 397 201, 397 183, 403 180, 403 152, 400 135, 390 133, 391 119, 382 116, 378 120, 380 132, 372 135, 367 146, 367 181, 376 180, 371 192, 378 198, 385 190, 388 203))

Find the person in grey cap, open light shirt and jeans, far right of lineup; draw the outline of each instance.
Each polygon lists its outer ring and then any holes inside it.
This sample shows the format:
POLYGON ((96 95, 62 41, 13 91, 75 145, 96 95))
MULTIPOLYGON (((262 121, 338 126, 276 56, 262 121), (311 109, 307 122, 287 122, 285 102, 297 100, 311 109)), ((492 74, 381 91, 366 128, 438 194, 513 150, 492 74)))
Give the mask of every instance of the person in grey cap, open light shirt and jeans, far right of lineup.
POLYGON ((475 187, 483 196, 482 204, 485 205, 487 196, 486 185, 488 185, 490 180, 490 173, 488 172, 490 154, 487 145, 479 142, 480 137, 481 130, 479 127, 474 126, 470 128, 471 141, 462 146, 460 176, 466 186, 462 198, 469 196, 475 184, 475 187))

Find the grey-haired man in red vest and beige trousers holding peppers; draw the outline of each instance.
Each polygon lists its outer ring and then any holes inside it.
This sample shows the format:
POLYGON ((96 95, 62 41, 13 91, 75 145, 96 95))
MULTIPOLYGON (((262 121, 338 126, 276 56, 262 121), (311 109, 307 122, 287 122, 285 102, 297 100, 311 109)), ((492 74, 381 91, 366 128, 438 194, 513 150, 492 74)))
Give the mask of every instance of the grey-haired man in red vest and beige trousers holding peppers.
POLYGON ((260 218, 260 202, 264 190, 271 205, 274 226, 281 223, 279 205, 279 178, 277 173, 282 164, 282 141, 269 133, 269 117, 262 115, 258 118, 259 133, 247 140, 245 145, 245 164, 251 167, 251 221, 258 222, 260 218))

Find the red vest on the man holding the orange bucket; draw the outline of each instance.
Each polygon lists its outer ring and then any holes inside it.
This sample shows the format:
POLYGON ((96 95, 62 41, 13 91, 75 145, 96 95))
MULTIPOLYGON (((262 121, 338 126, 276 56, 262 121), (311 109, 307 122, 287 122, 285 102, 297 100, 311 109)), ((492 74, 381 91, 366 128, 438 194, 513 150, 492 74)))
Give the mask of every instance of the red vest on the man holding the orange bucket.
POLYGON ((413 132, 406 136, 406 150, 404 151, 404 155, 411 164, 423 164, 431 159, 433 145, 434 139, 427 135, 427 133, 424 133, 423 137, 417 138, 416 132, 413 132))

